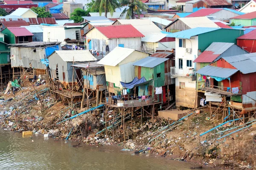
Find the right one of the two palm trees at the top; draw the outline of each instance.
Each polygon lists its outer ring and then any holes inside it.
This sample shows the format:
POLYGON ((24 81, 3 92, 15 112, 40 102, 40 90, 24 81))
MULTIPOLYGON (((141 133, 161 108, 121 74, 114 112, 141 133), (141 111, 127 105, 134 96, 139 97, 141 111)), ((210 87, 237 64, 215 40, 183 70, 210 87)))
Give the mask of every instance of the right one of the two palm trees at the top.
POLYGON ((140 0, 121 0, 121 4, 122 6, 127 6, 121 14, 124 15, 127 12, 125 16, 126 19, 135 19, 134 12, 140 15, 141 10, 147 11, 148 8, 148 6, 140 0))

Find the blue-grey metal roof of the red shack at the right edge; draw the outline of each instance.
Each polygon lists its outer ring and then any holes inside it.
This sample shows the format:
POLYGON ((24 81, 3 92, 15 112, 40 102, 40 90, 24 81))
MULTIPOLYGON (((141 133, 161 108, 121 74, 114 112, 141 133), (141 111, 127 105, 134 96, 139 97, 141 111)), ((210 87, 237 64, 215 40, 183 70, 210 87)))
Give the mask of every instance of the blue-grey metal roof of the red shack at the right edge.
POLYGON ((235 68, 239 69, 243 74, 255 73, 256 72, 256 62, 250 57, 256 57, 256 53, 242 54, 231 57, 222 57, 228 63, 233 65, 235 68))

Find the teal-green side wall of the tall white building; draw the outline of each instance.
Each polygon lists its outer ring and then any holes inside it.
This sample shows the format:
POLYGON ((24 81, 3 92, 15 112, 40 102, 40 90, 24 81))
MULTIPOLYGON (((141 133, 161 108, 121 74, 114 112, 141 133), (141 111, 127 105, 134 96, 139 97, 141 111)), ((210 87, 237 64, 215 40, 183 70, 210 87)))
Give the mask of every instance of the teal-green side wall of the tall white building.
POLYGON ((218 29, 216 31, 200 34, 198 35, 198 50, 204 52, 212 42, 236 43, 236 38, 242 35, 244 35, 244 31, 236 29, 218 29))

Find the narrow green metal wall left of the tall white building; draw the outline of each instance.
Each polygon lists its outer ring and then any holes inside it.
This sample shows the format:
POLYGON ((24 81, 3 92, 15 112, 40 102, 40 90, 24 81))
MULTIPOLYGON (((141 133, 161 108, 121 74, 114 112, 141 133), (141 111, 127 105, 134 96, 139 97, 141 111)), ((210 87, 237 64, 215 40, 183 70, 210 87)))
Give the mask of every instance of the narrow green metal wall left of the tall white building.
POLYGON ((154 67, 154 87, 164 86, 165 74, 164 74, 164 62, 154 67), (160 77, 157 74, 160 73, 160 77))

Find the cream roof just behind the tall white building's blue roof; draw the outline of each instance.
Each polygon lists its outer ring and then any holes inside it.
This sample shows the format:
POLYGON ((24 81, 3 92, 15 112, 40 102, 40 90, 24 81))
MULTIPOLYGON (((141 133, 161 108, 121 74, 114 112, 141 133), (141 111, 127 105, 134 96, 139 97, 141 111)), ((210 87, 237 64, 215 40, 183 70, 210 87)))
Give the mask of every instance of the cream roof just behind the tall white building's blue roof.
POLYGON ((215 24, 212 20, 207 17, 190 17, 190 18, 178 18, 183 23, 185 23, 189 28, 197 28, 197 27, 210 27, 210 28, 218 28, 218 25, 215 24))

